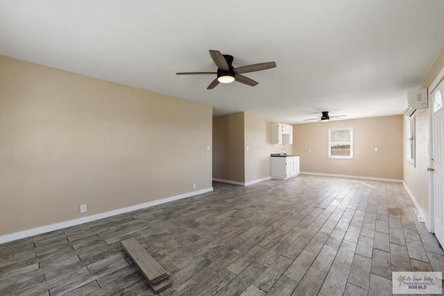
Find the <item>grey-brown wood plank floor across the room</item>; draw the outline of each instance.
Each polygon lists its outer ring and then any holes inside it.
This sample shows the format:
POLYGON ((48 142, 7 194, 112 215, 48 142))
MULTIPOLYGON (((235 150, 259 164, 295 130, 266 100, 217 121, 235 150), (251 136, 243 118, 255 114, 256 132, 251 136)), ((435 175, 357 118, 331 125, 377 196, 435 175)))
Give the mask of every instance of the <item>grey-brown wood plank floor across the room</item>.
POLYGON ((160 295, 391 295, 392 271, 443 271, 402 183, 300 175, 0 245, 0 295, 153 295, 119 241, 171 274, 160 295))

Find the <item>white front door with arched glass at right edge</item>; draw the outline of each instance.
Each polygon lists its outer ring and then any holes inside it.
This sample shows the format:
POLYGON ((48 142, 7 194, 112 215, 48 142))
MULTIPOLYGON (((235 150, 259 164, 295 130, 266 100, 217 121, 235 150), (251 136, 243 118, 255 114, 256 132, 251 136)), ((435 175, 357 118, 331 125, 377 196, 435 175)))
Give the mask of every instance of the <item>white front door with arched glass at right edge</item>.
POLYGON ((444 245, 444 81, 432 92, 434 231, 444 245))

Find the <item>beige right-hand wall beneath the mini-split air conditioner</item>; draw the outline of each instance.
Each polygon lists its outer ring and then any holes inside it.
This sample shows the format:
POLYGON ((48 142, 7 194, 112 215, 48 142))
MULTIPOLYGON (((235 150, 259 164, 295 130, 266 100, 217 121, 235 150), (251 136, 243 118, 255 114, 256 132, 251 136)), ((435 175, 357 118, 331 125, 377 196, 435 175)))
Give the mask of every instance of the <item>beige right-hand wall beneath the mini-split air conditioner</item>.
MULTIPOLYGON (((434 64, 425 76, 420 89, 429 88, 438 77, 440 71, 444 69, 444 47, 441 49, 434 64)), ((429 92, 432 89, 429 89, 429 92)), ((406 94, 407 100, 407 94, 406 94)), ((429 108, 420 116, 416 116, 416 166, 404 160, 404 184, 413 195, 416 201, 418 211, 423 218, 427 228, 430 230, 430 219, 433 214, 429 213, 429 174, 427 167, 431 166, 430 159, 432 155, 429 152, 429 143, 431 143, 430 120, 433 110, 432 98, 429 98, 429 108)), ((405 141, 405 137, 404 137, 405 141)), ((405 153, 405 152, 404 152, 405 153)), ((405 157, 404 157, 405 159, 405 157)))

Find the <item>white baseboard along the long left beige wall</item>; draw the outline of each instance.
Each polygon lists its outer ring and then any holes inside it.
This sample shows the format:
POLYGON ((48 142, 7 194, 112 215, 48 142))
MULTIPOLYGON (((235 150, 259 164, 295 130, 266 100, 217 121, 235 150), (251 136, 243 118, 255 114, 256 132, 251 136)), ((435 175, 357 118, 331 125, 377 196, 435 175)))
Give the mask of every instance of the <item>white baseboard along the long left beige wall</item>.
POLYGON ((60 223, 55 223, 55 224, 51 224, 51 225, 44 225, 42 227, 28 229, 28 230, 24 230, 22 232, 15 232, 15 233, 12 233, 12 234, 5 234, 3 236, 0 236, 0 244, 1 243, 8 243, 10 241, 16 241, 17 239, 27 238, 27 237, 35 236, 35 235, 38 235, 38 234, 44 234, 46 232, 53 232, 54 230, 63 229, 63 228, 71 227, 71 226, 74 226, 74 225, 79 225, 79 224, 91 222, 91 221, 94 221, 94 220, 108 218, 108 217, 116 216, 116 215, 119 215, 119 214, 125 214, 125 213, 128 213, 130 211, 136 211, 138 209, 145 209, 147 207, 153 207, 153 206, 155 206, 157 204, 164 204, 165 202, 172 202, 174 200, 180 200, 182 198, 189 198, 191 196, 207 193, 207 192, 210 192, 210 191, 213 191, 213 187, 210 187, 210 188, 207 188, 207 189, 198 190, 198 191, 192 191, 192 192, 189 192, 189 193, 183 193, 183 194, 176 195, 176 196, 171 196, 170 198, 162 198, 160 200, 153 200, 151 202, 145 202, 143 204, 136 204, 134 206, 124 207, 124 208, 121 208, 121 209, 116 209, 114 211, 107 211, 107 212, 101 213, 101 214, 86 216, 86 217, 83 217, 83 218, 77 218, 77 219, 74 219, 74 220, 68 220, 68 221, 64 221, 64 222, 60 222, 60 223))

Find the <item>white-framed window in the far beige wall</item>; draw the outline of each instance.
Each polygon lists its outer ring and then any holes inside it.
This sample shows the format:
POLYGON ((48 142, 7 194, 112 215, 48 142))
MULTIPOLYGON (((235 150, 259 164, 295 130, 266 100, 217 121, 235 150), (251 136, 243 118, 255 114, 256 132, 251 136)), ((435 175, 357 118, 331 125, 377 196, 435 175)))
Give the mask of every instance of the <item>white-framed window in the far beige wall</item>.
POLYGON ((328 129, 328 157, 353 158, 353 128, 328 129))

